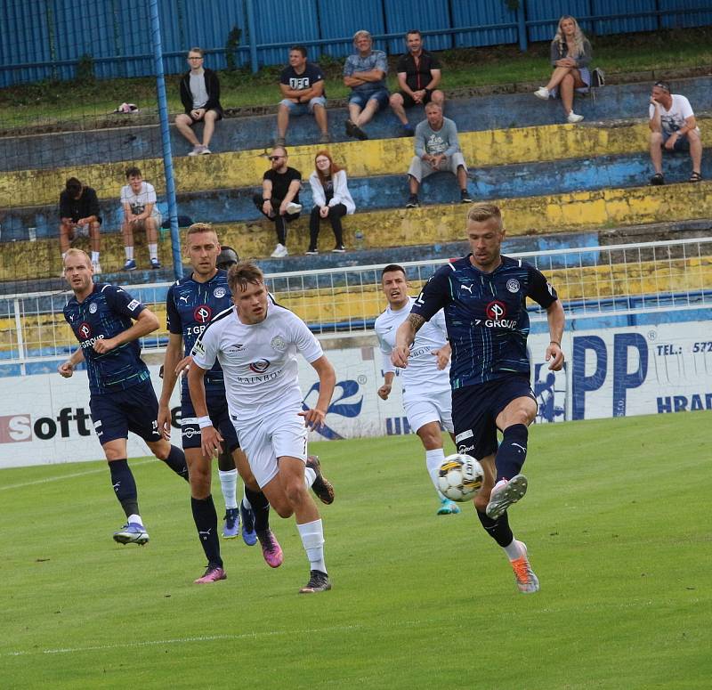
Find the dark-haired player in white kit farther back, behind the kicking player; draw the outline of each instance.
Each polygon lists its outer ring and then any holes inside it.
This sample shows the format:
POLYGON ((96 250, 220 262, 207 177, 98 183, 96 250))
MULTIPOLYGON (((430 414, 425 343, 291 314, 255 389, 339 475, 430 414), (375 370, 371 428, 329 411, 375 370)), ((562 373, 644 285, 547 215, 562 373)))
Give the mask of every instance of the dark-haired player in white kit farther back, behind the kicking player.
MULTIPOLYGON (((408 318, 410 307, 416 301, 408 296, 406 272, 398 264, 387 265, 381 272, 381 285, 388 308, 376 319, 376 336, 383 354, 384 385, 378 395, 388 400, 396 368, 391 361, 395 333, 408 318)), ((446 499, 438 491, 438 470, 445 459, 442 450, 441 426, 453 435, 452 394, 449 378, 450 346, 445 329, 445 316, 439 312, 417 332, 410 351, 408 369, 401 369, 403 407, 410 428, 415 429, 425 448, 425 467, 433 480, 441 500, 438 515, 460 512, 457 503, 446 499)), ((454 438, 453 438, 454 441, 454 438)))

